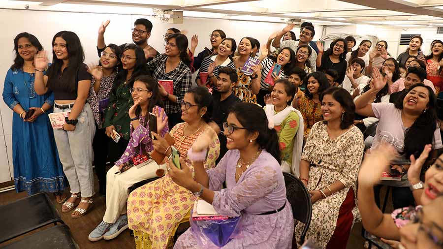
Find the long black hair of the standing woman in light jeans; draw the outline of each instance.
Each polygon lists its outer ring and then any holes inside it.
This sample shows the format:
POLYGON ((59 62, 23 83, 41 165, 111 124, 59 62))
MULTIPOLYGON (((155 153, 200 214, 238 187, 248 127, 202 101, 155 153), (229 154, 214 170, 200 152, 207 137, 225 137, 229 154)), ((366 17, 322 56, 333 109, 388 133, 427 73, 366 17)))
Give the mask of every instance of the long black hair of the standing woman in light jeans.
MULTIPOLYGON (((66 51, 68 53, 68 67, 63 71, 63 74, 70 79, 69 82, 63 82, 66 87, 72 92, 75 91, 77 82, 76 75, 80 66, 83 66, 83 61, 85 60, 85 52, 83 51, 82 44, 77 34, 71 31, 60 31, 54 35, 52 38, 52 45, 54 46, 57 37, 61 37, 66 41, 66 51)), ((48 75, 48 86, 51 87, 54 77, 62 71, 63 60, 57 59, 56 52, 52 50, 52 69, 48 75)))

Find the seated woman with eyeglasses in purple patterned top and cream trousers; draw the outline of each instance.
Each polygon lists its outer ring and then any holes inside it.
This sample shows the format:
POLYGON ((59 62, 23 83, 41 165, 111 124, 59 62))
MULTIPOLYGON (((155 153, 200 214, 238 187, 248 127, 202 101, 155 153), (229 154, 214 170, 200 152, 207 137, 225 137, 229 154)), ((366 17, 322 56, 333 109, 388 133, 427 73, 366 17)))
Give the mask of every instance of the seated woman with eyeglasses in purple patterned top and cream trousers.
POLYGON ((89 234, 89 240, 92 242, 114 239, 127 229, 128 188, 140 181, 156 177, 160 168, 155 161, 143 167, 133 165, 134 158, 149 157, 148 153, 153 151, 151 132, 156 132, 163 137, 169 130, 166 114, 159 107, 162 103, 158 95, 158 83, 151 76, 139 76, 129 92, 134 101, 128 110, 131 118, 130 140, 125 153, 106 174, 108 180, 106 211, 103 220, 89 234), (150 112, 157 116, 157 130, 155 131, 149 129, 150 112))

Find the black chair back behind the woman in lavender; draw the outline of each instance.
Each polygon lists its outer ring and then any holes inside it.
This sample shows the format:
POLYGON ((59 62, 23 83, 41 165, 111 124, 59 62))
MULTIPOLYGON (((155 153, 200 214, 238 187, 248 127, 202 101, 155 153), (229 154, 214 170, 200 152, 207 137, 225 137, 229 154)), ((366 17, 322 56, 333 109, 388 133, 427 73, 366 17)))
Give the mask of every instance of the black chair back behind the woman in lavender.
POLYGON ((302 245, 311 223, 311 195, 300 179, 286 172, 283 172, 283 176, 285 177, 286 198, 291 204, 294 219, 305 224, 299 241, 302 245))

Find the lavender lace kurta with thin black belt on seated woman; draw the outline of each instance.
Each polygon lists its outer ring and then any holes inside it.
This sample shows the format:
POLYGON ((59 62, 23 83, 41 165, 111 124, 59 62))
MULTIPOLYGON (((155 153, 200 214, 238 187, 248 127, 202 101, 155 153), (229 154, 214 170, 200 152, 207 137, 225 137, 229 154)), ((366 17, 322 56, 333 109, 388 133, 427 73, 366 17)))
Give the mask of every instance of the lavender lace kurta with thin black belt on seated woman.
MULTIPOLYGON (((212 205, 222 215, 242 216, 241 239, 232 239, 223 248, 289 249, 294 231, 294 219, 280 164, 266 151, 235 182, 235 170, 240 157, 238 150, 230 150, 216 168, 207 171, 209 188, 215 190, 212 205), (223 182, 226 187, 221 189, 223 182), (258 215, 281 208, 271 215, 258 215)), ((198 248, 191 229, 188 229, 174 249, 198 248)))

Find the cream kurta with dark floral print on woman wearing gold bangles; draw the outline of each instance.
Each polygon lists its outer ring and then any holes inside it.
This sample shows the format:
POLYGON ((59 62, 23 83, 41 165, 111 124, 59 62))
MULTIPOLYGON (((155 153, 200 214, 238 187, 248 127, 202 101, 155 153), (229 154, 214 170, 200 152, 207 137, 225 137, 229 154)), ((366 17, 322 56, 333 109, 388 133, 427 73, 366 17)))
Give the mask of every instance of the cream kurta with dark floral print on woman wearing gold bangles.
MULTIPOLYGON (((337 225, 339 210, 344 202, 349 188, 356 193, 358 169, 363 158, 363 134, 354 125, 337 138, 330 139, 326 125, 316 123, 309 133, 303 149, 302 160, 309 161, 308 190, 323 189, 335 181, 340 181, 344 189, 335 192, 326 199, 320 199, 312 205, 311 225, 306 233, 306 239, 316 242, 319 248, 326 248, 337 225)), ((352 210, 355 217, 358 214, 357 205, 352 210)), ((359 216, 358 216, 359 217, 359 216)), ((300 239, 303 226, 295 227, 297 241, 300 239)))

